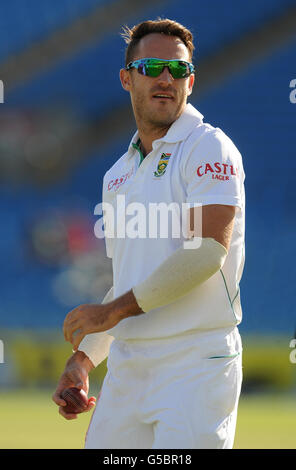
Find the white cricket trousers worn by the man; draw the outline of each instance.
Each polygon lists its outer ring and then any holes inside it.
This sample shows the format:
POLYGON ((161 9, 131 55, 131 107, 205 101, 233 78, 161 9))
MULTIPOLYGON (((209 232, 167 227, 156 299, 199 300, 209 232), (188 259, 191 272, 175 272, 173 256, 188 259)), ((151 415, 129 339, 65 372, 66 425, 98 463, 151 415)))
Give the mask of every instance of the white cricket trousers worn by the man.
POLYGON ((237 328, 114 340, 86 449, 231 449, 242 382, 237 328))

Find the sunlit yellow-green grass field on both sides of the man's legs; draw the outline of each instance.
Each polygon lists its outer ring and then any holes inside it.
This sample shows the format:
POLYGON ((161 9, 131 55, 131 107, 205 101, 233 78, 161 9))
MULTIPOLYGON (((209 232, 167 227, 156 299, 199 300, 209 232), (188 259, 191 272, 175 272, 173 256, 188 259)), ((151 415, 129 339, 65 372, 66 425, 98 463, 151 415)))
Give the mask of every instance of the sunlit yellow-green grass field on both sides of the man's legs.
MULTIPOLYGON (((66 421, 51 401, 51 391, 0 393, 0 448, 79 449, 91 414, 66 421)), ((278 395, 241 397, 236 449, 296 449, 296 401, 278 395)))

